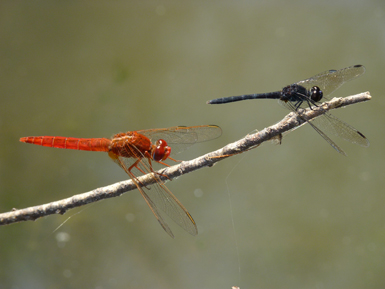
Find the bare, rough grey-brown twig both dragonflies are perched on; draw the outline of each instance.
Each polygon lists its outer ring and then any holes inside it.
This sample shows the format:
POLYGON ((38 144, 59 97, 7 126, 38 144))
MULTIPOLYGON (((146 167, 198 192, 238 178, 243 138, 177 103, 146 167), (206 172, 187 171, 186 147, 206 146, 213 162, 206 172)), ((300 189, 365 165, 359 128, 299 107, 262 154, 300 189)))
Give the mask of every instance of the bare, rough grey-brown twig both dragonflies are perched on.
MULTIPOLYGON (((227 157, 245 152, 259 146, 265 141, 280 137, 284 132, 288 132, 296 127, 299 127, 306 123, 306 121, 309 121, 325 113, 326 111, 358 102, 368 101, 370 99, 370 93, 364 92, 345 98, 334 98, 329 102, 323 103, 319 107, 313 108, 312 110, 305 110, 301 114, 301 117, 299 117, 296 113, 289 113, 280 122, 255 134, 247 135, 239 141, 228 144, 219 150, 208 153, 191 161, 184 161, 178 165, 161 169, 158 172, 161 174, 161 179, 165 181, 167 179, 174 179, 202 167, 213 166, 216 162, 219 162, 227 157)), ((151 174, 141 176, 138 179, 139 182, 144 186, 151 185, 155 181, 155 178, 152 178, 151 174)), ((75 195, 60 201, 20 210, 13 209, 11 212, 0 214, 0 225, 7 225, 20 221, 36 220, 40 217, 52 214, 64 214, 69 209, 97 202, 102 199, 117 197, 134 189, 136 189, 135 184, 131 180, 128 180, 103 188, 98 188, 87 193, 75 195)))

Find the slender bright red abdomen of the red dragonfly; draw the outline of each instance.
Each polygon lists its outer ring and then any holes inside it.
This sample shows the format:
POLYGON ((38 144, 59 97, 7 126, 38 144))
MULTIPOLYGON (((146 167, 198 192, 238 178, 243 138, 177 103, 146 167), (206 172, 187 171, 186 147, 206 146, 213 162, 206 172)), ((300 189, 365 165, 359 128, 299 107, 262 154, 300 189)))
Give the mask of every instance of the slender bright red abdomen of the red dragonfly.
POLYGON ((29 136, 22 137, 20 141, 45 147, 98 152, 108 152, 111 143, 111 140, 106 138, 74 138, 62 136, 29 136))

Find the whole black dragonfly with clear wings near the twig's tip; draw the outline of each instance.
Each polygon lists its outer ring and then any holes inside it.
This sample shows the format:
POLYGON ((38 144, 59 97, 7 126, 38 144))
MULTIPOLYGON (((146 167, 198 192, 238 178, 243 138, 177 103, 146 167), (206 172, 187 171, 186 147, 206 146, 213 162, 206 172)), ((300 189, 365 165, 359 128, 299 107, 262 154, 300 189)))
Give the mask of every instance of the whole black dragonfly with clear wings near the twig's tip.
MULTIPOLYGON (((246 99, 278 99, 288 109, 298 112, 300 108, 318 106, 321 100, 328 100, 332 92, 365 72, 362 65, 340 70, 327 70, 313 77, 285 86, 280 91, 230 96, 209 100, 208 104, 222 104, 246 99)), ((349 124, 326 112, 308 123, 339 153, 346 153, 323 131, 337 135, 351 143, 369 146, 368 139, 349 124), (322 130, 320 129, 322 128, 322 130)))

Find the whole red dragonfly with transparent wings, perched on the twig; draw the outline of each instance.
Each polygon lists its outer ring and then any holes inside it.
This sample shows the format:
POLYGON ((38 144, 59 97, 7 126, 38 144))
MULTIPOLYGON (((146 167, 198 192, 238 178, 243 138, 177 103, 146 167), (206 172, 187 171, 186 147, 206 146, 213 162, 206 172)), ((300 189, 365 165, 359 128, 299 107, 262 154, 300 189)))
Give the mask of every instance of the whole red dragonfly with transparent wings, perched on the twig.
POLYGON ((23 137, 20 141, 46 147, 108 152, 109 157, 135 183, 162 228, 174 238, 171 229, 160 215, 158 208, 193 236, 198 233, 194 219, 165 186, 158 174, 153 174, 153 177, 156 179, 153 185, 155 190, 149 190, 142 186, 132 170, 135 168, 142 174, 152 173, 152 161, 165 166, 169 166, 164 163, 166 159, 176 161, 170 157, 171 147, 169 145, 172 145, 173 153, 178 153, 195 143, 215 139, 221 134, 222 130, 218 126, 202 125, 129 131, 118 133, 112 139, 32 136, 23 137))

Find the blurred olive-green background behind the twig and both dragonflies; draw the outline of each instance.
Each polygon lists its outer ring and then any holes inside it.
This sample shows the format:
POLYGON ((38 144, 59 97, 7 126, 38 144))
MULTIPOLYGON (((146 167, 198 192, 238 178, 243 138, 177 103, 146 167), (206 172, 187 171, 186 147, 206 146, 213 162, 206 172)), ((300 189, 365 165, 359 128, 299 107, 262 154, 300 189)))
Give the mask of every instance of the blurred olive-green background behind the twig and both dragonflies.
POLYGON ((333 96, 373 99, 333 114, 369 148, 341 140, 343 157, 304 126, 168 182, 196 237, 168 220, 171 239, 137 191, 0 227, 0 288, 385 287, 384 1, 1 1, 0 212, 128 178, 107 154, 20 137, 222 127, 187 160, 288 113, 207 100, 354 64, 366 73, 333 96))

